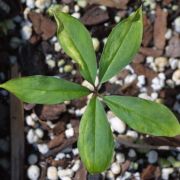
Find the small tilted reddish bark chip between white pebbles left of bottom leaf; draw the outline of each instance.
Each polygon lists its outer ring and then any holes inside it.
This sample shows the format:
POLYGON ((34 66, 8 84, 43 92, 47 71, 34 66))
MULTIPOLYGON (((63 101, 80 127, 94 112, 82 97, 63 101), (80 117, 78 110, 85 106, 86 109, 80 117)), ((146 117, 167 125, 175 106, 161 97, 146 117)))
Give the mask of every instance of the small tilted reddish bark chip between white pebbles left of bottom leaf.
POLYGON ((65 135, 64 133, 61 133, 58 136, 55 136, 52 140, 48 142, 48 148, 52 149, 57 146, 60 146, 64 140, 65 140, 65 135))

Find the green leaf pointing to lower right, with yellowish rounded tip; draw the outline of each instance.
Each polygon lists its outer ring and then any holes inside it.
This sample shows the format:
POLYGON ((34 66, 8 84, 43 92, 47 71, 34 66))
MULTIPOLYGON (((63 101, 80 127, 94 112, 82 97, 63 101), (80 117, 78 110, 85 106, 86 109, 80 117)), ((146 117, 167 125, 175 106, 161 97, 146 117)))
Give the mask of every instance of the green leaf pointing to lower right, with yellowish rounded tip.
POLYGON ((131 128, 154 136, 176 136, 180 124, 164 105, 129 96, 105 96, 112 112, 131 128))

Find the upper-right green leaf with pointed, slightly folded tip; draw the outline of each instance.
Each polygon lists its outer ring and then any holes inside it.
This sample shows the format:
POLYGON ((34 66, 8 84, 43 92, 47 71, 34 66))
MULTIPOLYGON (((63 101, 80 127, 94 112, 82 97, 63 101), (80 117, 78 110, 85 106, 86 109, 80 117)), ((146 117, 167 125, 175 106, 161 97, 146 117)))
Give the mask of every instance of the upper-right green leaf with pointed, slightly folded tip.
POLYGON ((129 64, 137 53, 143 34, 142 9, 120 22, 110 33, 103 50, 99 79, 103 83, 129 64))

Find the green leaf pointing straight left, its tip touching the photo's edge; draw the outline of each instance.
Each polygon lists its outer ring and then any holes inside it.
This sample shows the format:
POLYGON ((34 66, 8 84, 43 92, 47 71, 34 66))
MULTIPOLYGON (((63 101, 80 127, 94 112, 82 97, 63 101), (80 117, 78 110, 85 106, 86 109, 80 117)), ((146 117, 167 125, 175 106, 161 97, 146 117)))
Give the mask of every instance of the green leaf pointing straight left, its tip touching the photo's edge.
POLYGON ((88 95, 78 84, 48 76, 29 76, 7 81, 0 85, 27 103, 57 104, 88 95))

